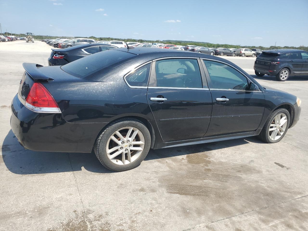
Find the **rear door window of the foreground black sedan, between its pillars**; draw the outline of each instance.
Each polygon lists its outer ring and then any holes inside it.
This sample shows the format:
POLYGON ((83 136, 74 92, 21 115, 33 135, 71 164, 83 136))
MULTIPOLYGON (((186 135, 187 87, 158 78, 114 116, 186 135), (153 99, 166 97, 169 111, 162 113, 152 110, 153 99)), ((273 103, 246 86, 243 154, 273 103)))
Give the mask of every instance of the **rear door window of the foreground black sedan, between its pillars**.
POLYGON ((156 61, 153 87, 202 88, 197 59, 164 59, 156 61))

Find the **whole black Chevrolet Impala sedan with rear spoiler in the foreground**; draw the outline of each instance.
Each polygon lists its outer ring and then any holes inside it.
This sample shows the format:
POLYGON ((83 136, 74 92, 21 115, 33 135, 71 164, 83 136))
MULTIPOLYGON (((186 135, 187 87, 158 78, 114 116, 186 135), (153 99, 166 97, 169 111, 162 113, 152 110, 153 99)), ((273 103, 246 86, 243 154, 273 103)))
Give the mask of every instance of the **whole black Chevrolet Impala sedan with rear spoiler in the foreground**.
POLYGON ((259 136, 276 143, 301 100, 262 87, 216 56, 116 48, 64 66, 24 63, 11 128, 30 150, 94 150, 108 169, 138 166, 150 148, 259 136))

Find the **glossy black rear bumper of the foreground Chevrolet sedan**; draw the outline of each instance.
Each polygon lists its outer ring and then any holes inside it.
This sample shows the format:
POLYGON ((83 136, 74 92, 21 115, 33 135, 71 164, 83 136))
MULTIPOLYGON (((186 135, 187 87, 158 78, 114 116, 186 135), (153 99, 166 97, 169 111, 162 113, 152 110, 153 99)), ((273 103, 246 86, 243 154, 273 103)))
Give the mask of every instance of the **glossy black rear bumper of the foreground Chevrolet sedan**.
POLYGON ((11 111, 14 135, 24 148, 33 151, 90 153, 103 128, 98 124, 68 123, 59 113, 30 111, 17 95, 12 100, 11 111))

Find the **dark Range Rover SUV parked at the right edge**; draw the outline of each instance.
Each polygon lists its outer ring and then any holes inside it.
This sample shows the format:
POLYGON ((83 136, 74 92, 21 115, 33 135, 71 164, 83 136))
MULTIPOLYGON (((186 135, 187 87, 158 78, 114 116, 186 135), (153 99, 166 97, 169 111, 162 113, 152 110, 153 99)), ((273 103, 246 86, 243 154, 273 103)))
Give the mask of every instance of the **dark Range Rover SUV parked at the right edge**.
POLYGON ((295 49, 262 51, 254 62, 257 76, 275 75, 285 81, 290 75, 308 75, 308 52, 295 49))

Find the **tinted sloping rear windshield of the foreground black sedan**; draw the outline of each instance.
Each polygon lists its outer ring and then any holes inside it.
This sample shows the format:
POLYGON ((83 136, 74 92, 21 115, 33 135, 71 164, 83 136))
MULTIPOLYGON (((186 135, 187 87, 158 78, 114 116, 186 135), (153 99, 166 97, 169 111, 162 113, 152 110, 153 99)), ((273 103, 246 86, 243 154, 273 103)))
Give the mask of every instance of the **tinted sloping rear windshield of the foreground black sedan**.
POLYGON ((77 59, 71 63, 67 63, 62 66, 61 69, 70 75, 74 75, 79 78, 86 78, 97 71, 125 59, 129 59, 133 56, 135 55, 128 52, 106 50, 104 52, 98 52, 93 55, 83 57, 82 59, 77 59))

